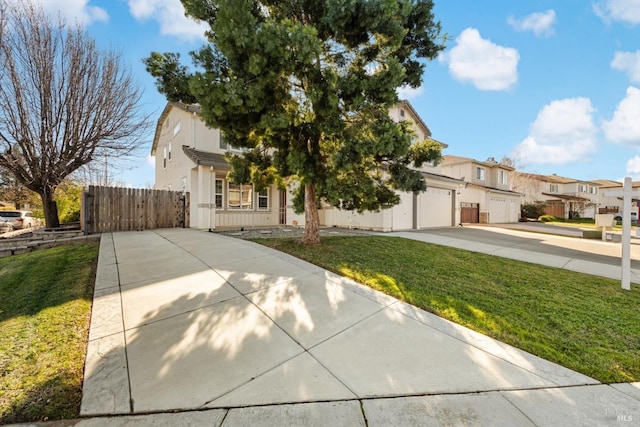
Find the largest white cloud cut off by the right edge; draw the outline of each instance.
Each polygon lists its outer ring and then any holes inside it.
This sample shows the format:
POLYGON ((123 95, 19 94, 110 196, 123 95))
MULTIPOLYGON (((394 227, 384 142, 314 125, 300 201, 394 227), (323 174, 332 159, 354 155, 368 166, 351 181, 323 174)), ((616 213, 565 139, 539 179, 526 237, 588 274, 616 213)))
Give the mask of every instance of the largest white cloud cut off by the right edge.
POLYGON ((609 141, 640 146, 640 89, 627 88, 627 96, 618 104, 613 118, 602 123, 609 141))

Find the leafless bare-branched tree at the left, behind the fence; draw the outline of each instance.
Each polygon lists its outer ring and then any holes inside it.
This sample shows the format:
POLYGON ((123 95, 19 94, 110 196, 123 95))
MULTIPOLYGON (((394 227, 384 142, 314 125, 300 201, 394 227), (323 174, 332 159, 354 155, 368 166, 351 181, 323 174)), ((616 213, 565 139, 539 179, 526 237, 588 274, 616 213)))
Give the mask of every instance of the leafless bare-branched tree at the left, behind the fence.
POLYGON ((31 2, 0 5, 0 168, 42 199, 47 227, 65 177, 94 159, 122 158, 148 128, 142 92, 122 54, 79 24, 31 2))

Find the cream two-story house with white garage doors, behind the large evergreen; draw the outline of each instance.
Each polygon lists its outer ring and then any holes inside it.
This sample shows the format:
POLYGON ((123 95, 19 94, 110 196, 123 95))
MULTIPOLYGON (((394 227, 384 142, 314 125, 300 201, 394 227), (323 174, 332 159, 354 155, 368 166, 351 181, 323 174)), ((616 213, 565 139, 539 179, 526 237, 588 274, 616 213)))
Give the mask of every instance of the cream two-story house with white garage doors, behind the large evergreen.
MULTIPOLYGON (((401 102, 390 115, 396 121, 410 121, 416 140, 431 136, 409 102, 401 102)), ((218 129, 204 124, 199 106, 168 103, 158 120, 151 148, 156 159, 154 188, 189 192, 190 222, 194 228, 304 226, 304 214, 294 213, 290 191, 273 186, 257 194, 251 184, 228 182, 230 166, 224 159, 227 151, 236 149, 225 143, 218 129)), ((323 206, 320 224, 380 231, 458 224, 457 194, 464 188, 464 181, 445 176, 440 166, 424 165, 421 172, 427 183, 425 193, 401 193, 399 205, 379 212, 358 214, 323 206)))

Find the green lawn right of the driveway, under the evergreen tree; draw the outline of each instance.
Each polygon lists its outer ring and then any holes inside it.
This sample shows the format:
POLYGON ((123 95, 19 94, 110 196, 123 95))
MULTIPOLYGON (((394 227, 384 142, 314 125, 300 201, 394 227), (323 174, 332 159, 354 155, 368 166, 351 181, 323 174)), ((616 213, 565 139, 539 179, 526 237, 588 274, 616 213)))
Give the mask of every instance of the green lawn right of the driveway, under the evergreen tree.
POLYGON ((640 381, 637 285, 394 237, 259 243, 599 381, 640 381))

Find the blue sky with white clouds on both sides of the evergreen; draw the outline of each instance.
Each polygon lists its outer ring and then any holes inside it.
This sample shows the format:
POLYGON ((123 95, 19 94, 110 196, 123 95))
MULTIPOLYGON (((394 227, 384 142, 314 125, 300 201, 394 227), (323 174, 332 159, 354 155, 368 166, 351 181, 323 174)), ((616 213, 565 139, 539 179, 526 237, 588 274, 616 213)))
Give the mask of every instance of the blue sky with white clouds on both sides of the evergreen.
MULTIPOLYGON (((145 88, 144 110, 164 97, 144 71, 151 51, 186 53, 204 27, 179 0, 42 0, 119 49, 145 88)), ((519 170, 583 180, 640 179, 640 0, 435 0, 447 49, 417 90, 401 91, 444 154, 510 156, 519 170)), ((117 178, 153 184, 153 131, 117 178)))

